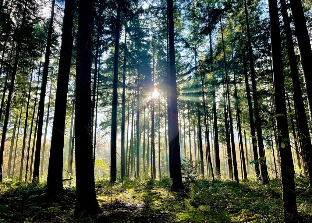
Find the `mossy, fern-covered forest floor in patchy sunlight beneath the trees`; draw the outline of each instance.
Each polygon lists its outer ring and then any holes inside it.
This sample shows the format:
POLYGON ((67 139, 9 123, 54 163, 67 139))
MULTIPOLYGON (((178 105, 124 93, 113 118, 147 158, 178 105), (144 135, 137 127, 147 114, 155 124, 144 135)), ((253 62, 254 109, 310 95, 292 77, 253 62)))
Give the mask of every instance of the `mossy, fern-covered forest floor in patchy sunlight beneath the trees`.
MULTIPOLYGON (((197 180, 185 191, 172 191, 171 180, 126 179, 96 181, 102 213, 74 215, 75 187, 50 198, 45 184, 4 181, 0 185, 0 222, 283 222, 278 179, 262 185, 241 181, 197 180)), ((305 222, 312 222, 312 190, 296 179, 297 205, 305 222)), ((68 185, 66 186, 68 187, 68 185)))

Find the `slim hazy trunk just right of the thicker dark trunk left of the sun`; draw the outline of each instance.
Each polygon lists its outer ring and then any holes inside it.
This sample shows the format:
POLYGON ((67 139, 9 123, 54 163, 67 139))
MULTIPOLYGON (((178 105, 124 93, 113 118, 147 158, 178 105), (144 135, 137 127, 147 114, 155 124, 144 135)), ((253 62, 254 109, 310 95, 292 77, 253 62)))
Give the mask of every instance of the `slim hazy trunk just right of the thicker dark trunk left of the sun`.
MULTIPOLYGON (((122 108, 121 108, 121 176, 125 177, 126 171, 125 171, 125 163, 124 163, 124 122, 125 122, 125 102, 126 102, 126 53, 127 53, 127 23, 125 23, 124 27, 124 65, 123 65, 123 76, 122 76, 122 108)), ((145 107, 144 107, 145 108, 145 107)), ((129 110, 128 110, 129 112, 129 110)), ((145 110, 144 110, 145 112, 145 110)), ((144 113, 145 115, 145 113, 144 113)), ((144 118, 145 122, 145 118, 144 118)), ((145 133, 145 132, 144 132, 145 133)), ((145 137, 144 137, 145 140, 145 137)), ((144 163, 145 165, 145 163, 144 163)), ((145 172, 145 166, 144 166, 144 172, 145 172)))

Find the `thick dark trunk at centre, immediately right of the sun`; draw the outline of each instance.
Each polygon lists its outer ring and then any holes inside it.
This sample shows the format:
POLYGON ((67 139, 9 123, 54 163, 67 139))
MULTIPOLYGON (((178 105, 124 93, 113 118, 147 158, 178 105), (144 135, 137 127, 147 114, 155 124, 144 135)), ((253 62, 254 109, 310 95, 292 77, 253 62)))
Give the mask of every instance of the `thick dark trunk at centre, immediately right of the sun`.
POLYGON ((173 24, 173 0, 168 0, 168 35, 169 35, 169 144, 172 147, 172 177, 173 188, 183 188, 181 157, 179 145, 179 125, 178 125, 178 102, 177 102, 177 80, 175 68, 174 50, 174 24, 173 24))

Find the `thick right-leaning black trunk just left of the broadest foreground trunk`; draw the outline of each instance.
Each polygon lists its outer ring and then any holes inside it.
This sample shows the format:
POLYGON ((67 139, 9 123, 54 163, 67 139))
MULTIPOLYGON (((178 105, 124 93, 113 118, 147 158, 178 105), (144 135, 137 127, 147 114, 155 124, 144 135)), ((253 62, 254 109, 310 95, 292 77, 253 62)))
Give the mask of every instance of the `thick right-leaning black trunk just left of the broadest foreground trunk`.
MULTIPOLYGON (((53 195, 60 194, 63 191, 63 148, 64 148, 64 133, 66 119, 67 89, 71 66, 71 52, 73 46, 73 20, 74 20, 74 1, 66 0, 62 27, 60 62, 56 85, 50 158, 46 182, 47 192, 53 195)), ((71 150, 71 147, 69 148, 70 148, 69 150, 71 150)))

